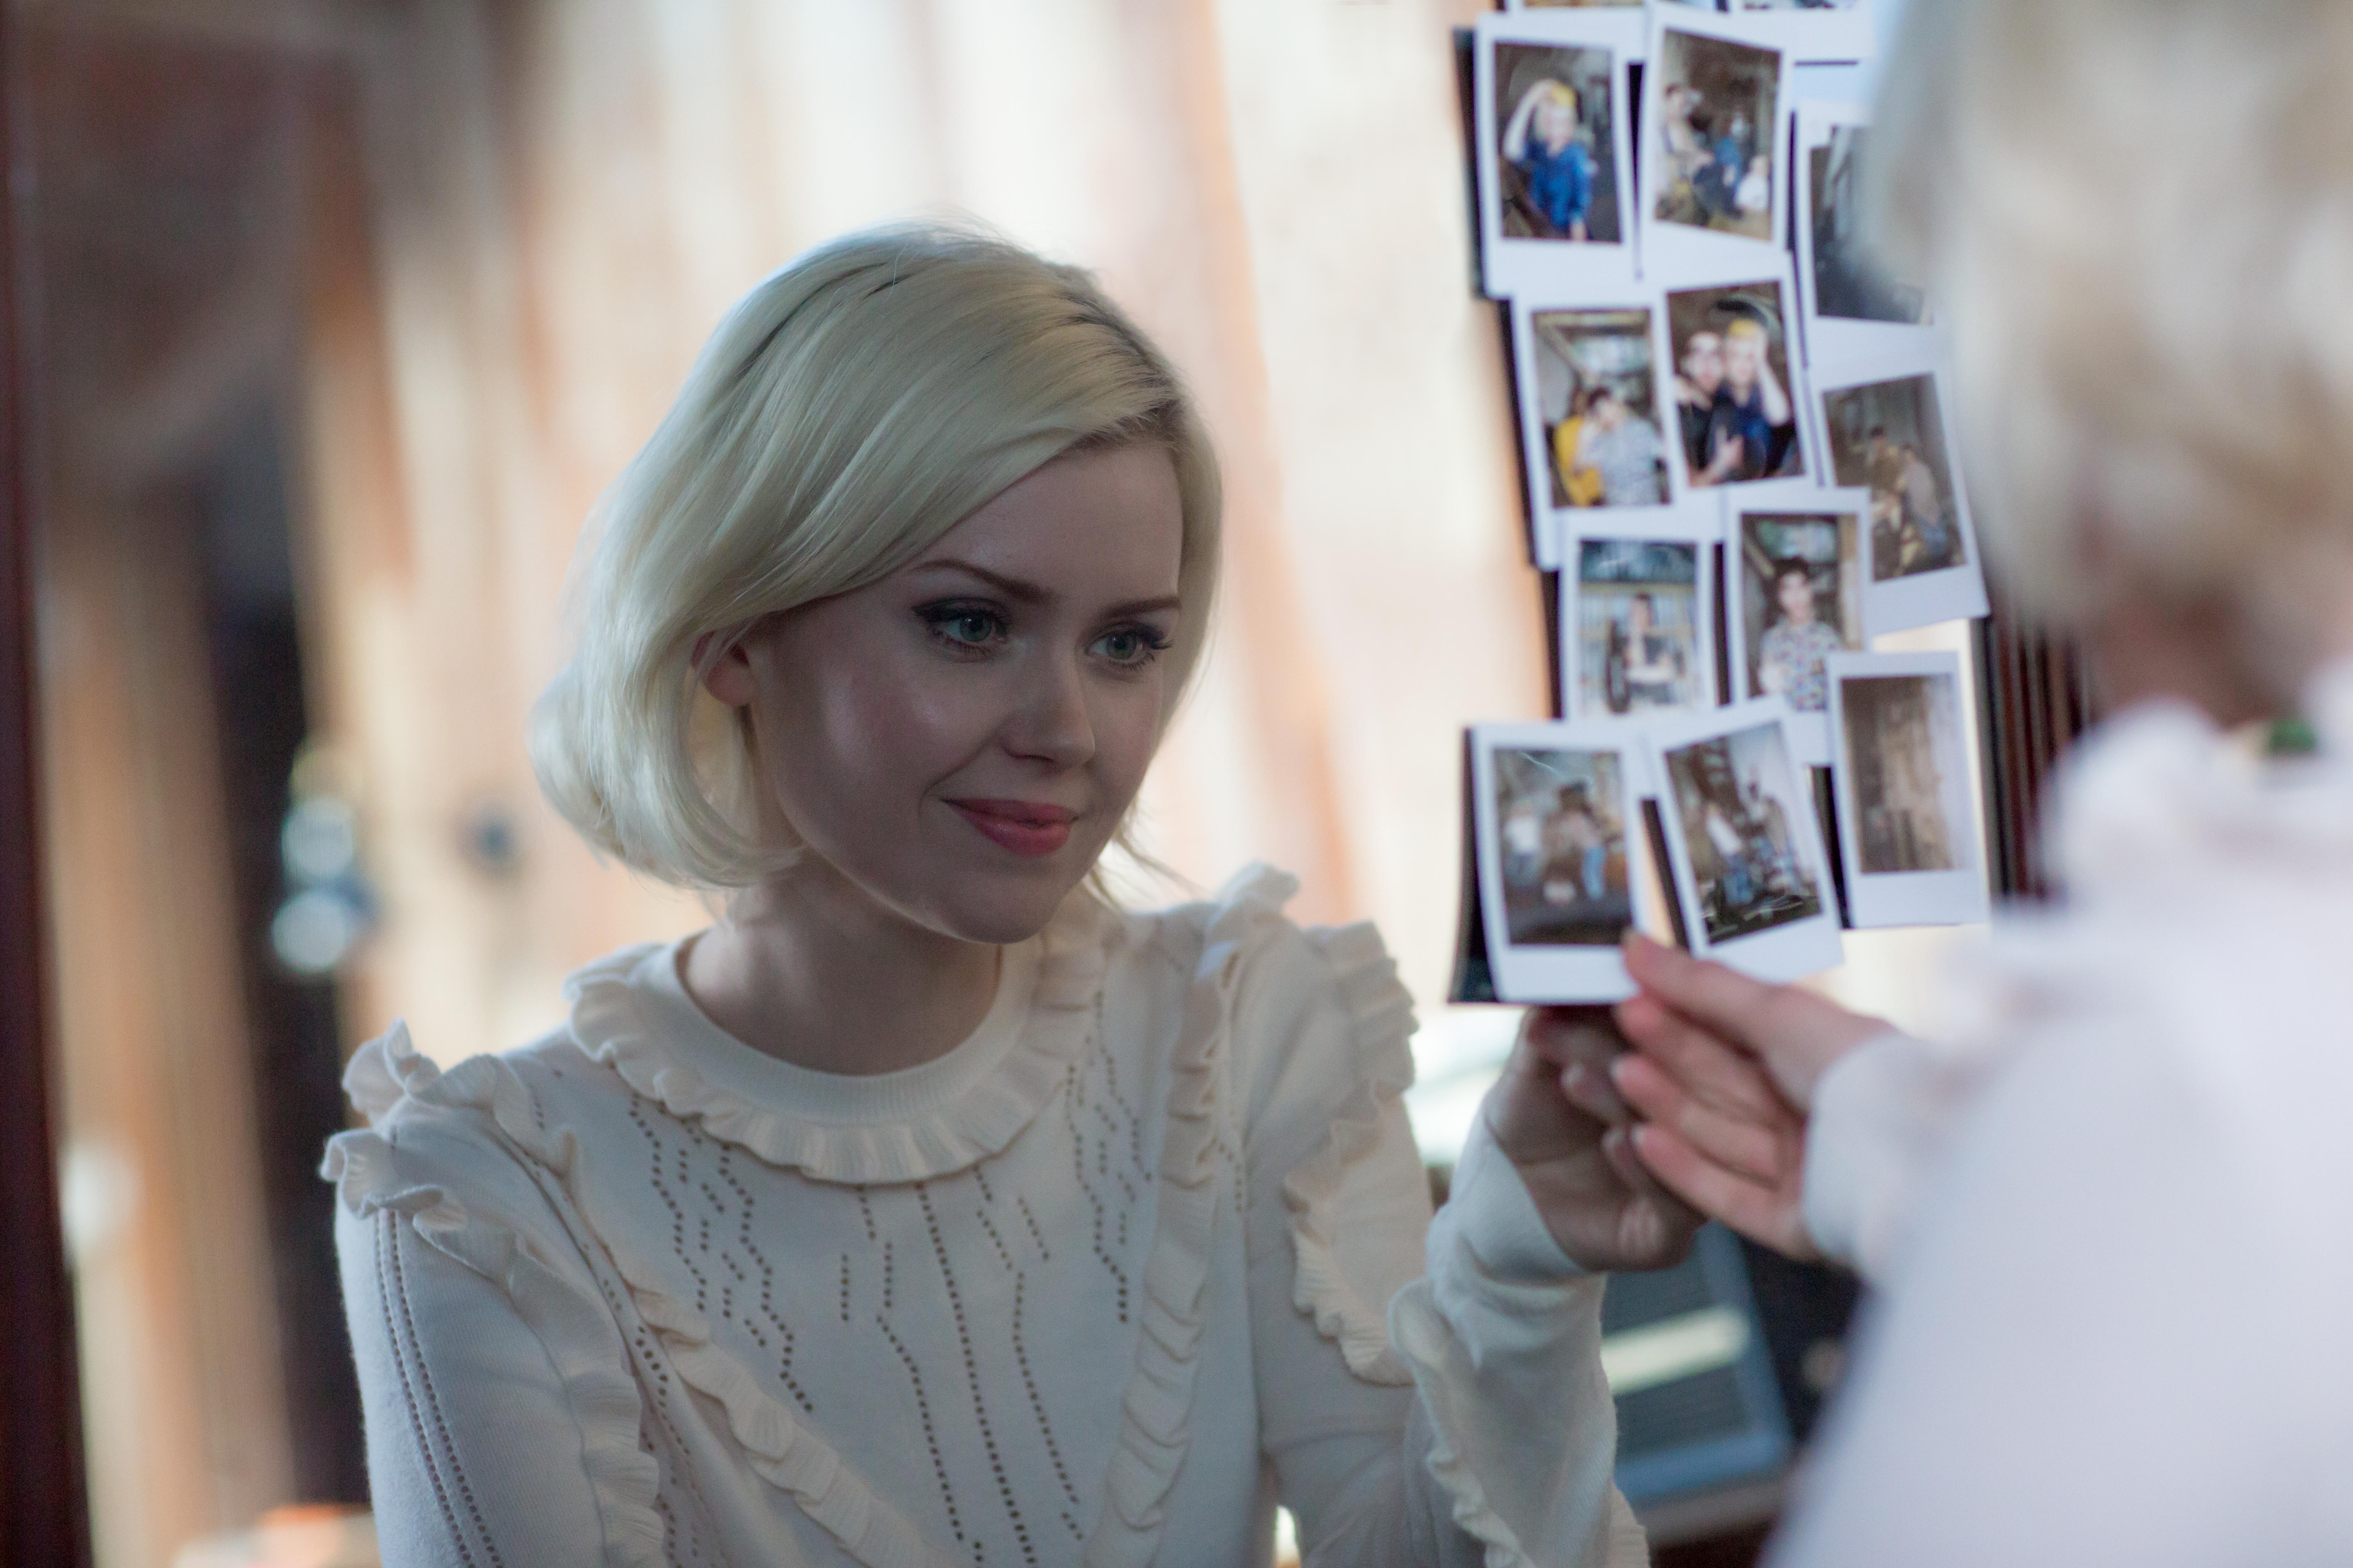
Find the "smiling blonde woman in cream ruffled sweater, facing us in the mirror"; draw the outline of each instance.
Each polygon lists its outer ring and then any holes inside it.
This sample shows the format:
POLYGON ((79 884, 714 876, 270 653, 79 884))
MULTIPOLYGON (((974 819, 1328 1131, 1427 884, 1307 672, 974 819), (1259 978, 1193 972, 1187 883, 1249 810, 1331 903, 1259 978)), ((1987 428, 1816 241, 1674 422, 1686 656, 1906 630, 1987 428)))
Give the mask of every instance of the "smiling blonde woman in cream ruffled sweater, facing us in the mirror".
POLYGON ((727 893, 541 1041, 395 1027, 327 1154, 388 1568, 1640 1563, 1602 1269, 1697 1225, 1539 1018, 1431 1199, 1407 997, 1271 870, 1096 891, 1217 468, 1078 270, 941 230, 755 287, 602 505, 536 712, 727 893))

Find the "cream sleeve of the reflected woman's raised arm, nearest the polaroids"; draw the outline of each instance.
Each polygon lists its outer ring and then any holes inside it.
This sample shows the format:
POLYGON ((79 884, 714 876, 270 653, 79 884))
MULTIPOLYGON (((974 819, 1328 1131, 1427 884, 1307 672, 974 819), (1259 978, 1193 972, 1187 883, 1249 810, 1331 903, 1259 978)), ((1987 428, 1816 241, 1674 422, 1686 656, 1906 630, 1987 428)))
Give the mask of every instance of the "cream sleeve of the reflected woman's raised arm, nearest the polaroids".
POLYGON ((1409 999, 1369 926, 1301 933, 1268 907, 1252 947, 1235 997, 1252 1356, 1304 1561, 1642 1563, 1609 1483, 1602 1281, 1485 1145, 1431 1225, 1400 1098, 1409 999))

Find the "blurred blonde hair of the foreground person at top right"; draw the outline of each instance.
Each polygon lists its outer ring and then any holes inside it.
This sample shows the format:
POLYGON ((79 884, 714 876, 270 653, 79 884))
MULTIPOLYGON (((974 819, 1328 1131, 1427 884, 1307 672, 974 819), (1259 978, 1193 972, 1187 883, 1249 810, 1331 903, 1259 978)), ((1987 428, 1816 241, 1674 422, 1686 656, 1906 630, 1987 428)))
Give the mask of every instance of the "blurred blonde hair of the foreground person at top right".
POLYGON ((2235 599, 2273 665, 2308 663, 2341 581, 2313 567, 2353 552, 2348 82, 2344 0, 1913 0, 1873 228, 1953 322, 2028 609, 2129 576, 2235 599))

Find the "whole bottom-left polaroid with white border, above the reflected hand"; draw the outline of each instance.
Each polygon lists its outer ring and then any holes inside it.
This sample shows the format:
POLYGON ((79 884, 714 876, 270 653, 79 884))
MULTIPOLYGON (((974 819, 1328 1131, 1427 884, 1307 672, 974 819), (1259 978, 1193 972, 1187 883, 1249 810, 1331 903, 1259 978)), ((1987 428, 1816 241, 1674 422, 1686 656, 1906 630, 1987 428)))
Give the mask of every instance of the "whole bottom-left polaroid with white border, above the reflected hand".
POLYGON ((1631 724, 1480 724, 1471 820, 1497 1001, 1621 1001, 1628 926, 1652 919, 1649 792, 1631 724))

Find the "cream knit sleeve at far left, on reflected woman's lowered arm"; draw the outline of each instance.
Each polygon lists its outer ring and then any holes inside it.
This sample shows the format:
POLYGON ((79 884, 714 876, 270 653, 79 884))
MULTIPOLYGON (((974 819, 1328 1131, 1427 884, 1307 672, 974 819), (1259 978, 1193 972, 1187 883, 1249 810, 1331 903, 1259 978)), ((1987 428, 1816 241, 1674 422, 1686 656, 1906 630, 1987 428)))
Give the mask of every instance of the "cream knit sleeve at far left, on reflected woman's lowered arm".
MULTIPOLYGON (((369 1079, 431 1081, 405 1046, 362 1046, 362 1107, 369 1079)), ((654 1458, 616 1441, 626 1347, 548 1197, 482 1119, 398 1091, 374 1110, 325 1175, 386 1568, 664 1561, 654 1458)))

